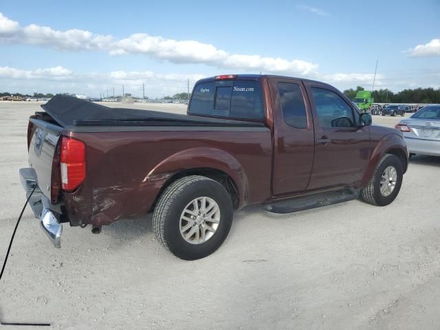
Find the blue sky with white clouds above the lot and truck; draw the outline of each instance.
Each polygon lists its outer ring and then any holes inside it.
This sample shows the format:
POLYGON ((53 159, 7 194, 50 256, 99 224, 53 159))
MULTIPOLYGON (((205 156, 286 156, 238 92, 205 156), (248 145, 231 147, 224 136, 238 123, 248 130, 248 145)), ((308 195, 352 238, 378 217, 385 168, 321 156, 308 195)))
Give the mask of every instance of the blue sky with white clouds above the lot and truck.
POLYGON ((0 91, 158 97, 259 73, 440 87, 440 1, 5 1, 0 91))

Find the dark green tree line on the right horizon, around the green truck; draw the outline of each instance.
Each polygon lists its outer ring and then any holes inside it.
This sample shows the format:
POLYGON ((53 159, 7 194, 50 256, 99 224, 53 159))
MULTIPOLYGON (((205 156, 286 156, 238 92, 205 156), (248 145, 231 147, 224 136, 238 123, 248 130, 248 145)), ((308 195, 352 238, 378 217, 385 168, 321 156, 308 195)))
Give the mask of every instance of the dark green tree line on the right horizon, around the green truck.
MULTIPOLYGON (((346 89, 344 94, 353 100, 358 91, 364 91, 364 88, 358 86, 356 89, 346 89)), ((440 103, 440 88, 404 89, 397 93, 389 89, 379 89, 373 91, 371 97, 375 103, 440 103)))

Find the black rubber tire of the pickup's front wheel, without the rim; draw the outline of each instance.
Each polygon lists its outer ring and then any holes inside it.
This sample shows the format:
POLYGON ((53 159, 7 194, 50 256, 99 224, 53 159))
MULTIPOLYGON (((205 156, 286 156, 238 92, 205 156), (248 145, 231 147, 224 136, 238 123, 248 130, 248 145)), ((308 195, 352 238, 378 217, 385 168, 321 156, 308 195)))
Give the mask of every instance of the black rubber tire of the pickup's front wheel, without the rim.
POLYGON ((400 159, 395 155, 386 154, 382 159, 380 159, 379 164, 377 164, 377 168, 373 177, 369 181, 369 184, 361 190, 362 199, 371 205, 375 206, 386 206, 392 203, 397 195, 399 194, 401 181, 404 177, 404 170, 402 168, 402 164, 400 159), (382 173, 388 166, 394 166, 397 172, 397 180, 395 184, 395 188, 391 195, 384 196, 380 192, 380 179, 382 177, 382 173))

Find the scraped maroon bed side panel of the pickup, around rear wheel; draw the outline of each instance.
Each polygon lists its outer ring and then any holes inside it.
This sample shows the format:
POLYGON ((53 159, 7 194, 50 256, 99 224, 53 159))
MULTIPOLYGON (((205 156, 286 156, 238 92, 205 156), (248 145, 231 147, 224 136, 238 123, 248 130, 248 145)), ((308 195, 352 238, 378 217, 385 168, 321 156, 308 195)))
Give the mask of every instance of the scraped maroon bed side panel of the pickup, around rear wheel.
POLYGON ((213 168, 228 173, 240 205, 270 197, 272 139, 269 129, 175 129, 75 132, 85 142, 87 177, 65 193, 72 225, 107 225, 145 214, 166 181, 179 170, 213 168))

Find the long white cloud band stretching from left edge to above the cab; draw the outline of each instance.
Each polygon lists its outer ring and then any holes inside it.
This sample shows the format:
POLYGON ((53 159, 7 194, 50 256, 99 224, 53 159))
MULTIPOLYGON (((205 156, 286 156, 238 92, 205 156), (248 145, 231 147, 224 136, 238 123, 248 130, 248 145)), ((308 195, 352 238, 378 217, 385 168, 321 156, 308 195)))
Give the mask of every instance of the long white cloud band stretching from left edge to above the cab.
POLYGON ((303 60, 230 54, 214 45, 199 41, 166 39, 137 33, 124 39, 94 34, 85 30, 53 30, 30 24, 21 27, 0 13, 0 43, 44 45, 57 50, 103 50, 111 55, 144 54, 172 63, 199 63, 222 69, 275 74, 309 74, 318 65, 303 60))

